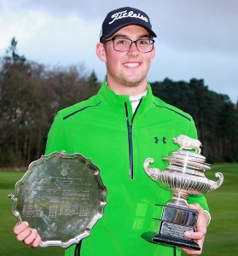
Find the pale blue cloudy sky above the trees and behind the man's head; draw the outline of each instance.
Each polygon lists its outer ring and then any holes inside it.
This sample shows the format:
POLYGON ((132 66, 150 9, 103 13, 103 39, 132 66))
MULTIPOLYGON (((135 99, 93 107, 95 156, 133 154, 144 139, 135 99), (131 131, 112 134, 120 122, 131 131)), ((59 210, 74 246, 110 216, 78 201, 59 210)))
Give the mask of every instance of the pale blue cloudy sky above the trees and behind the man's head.
POLYGON ((0 0, 0 57, 15 37, 27 60, 83 65, 102 81, 105 64, 96 56, 102 21, 125 6, 147 13, 157 34, 148 81, 204 79, 209 90, 237 102, 237 0, 0 0))

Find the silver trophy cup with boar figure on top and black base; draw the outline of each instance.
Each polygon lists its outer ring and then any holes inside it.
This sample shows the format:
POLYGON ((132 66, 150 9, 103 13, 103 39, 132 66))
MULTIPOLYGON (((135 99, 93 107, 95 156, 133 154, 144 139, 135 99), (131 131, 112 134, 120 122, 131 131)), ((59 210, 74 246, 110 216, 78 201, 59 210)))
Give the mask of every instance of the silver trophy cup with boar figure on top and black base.
POLYGON ((148 177, 153 179, 163 189, 172 191, 172 200, 163 207, 159 233, 148 231, 142 234, 142 238, 153 242, 163 243, 177 247, 200 250, 199 245, 193 239, 184 236, 186 231, 196 231, 198 212, 188 207, 189 195, 200 195, 218 189, 223 183, 223 174, 217 172, 218 181, 214 182, 205 177, 204 172, 211 167, 205 163, 206 158, 200 154, 200 141, 180 135, 173 139, 180 148, 172 152, 171 156, 162 159, 168 160, 167 169, 161 172, 157 168, 150 168, 152 158, 144 162, 144 170, 148 177), (187 149, 194 149, 191 152, 187 149))

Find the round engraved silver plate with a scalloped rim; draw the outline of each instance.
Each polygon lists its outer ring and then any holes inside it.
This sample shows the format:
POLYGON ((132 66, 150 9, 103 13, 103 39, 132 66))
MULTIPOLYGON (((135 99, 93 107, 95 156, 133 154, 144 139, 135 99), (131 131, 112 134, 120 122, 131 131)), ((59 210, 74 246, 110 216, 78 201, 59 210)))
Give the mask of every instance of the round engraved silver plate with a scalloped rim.
POLYGON ((30 164, 15 184, 13 213, 38 230, 41 247, 69 247, 102 218, 107 189, 100 170, 82 154, 54 152, 30 164))

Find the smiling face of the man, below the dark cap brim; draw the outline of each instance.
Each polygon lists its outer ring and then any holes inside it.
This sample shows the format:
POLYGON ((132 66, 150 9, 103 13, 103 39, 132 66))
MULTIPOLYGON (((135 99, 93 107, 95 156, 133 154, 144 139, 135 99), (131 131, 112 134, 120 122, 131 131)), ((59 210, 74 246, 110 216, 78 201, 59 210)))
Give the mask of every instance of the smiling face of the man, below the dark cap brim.
MULTIPOLYGON (((125 26, 113 34, 111 38, 123 37, 135 41, 140 38, 150 38, 146 29, 142 26, 125 26)), ((110 39, 110 38, 108 38, 110 39)), ((131 49, 119 52, 113 49, 113 41, 108 41, 104 45, 105 61, 107 66, 107 83, 133 87, 147 84, 147 74, 150 63, 154 58, 155 50, 143 53, 138 51, 136 44, 131 45, 131 49)))

